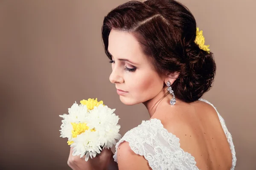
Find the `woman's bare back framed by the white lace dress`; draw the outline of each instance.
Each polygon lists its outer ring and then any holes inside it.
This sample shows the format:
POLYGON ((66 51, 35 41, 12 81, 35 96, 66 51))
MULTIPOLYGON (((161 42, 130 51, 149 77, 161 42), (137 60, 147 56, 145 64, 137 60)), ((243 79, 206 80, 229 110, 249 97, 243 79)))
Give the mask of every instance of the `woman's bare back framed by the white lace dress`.
POLYGON ((180 102, 161 108, 153 118, 160 119, 166 130, 180 139, 180 147, 195 157, 199 169, 231 169, 230 145, 215 108, 208 103, 180 102))

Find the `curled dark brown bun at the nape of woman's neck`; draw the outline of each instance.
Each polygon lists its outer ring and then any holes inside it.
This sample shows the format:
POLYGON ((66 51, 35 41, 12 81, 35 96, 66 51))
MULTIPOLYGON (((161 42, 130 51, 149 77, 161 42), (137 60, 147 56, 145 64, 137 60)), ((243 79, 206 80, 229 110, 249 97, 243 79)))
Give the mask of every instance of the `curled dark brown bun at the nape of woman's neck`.
POLYGON ((186 74, 177 79, 174 91, 186 102, 196 101, 212 87, 215 72, 213 54, 192 42, 186 46, 186 74))

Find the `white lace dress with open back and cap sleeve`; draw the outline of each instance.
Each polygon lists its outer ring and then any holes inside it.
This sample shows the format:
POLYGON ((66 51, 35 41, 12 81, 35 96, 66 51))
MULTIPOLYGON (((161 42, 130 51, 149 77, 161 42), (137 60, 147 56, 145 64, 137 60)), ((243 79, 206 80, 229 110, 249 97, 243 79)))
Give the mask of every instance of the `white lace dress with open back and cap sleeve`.
MULTIPOLYGON (((199 100, 212 105, 207 100, 199 100)), ((212 107, 214 106, 212 105, 212 107)), ((216 112, 230 145, 233 156, 231 170, 234 170, 236 166, 236 152, 232 136, 227 130, 224 119, 217 110, 216 112)), ((129 142, 131 150, 134 153, 144 156, 153 170, 199 170, 196 166, 195 158, 180 148, 180 139, 169 133, 159 119, 142 121, 139 126, 125 133, 122 139, 116 144, 116 152, 113 156, 116 162, 117 148, 124 141, 129 142)))

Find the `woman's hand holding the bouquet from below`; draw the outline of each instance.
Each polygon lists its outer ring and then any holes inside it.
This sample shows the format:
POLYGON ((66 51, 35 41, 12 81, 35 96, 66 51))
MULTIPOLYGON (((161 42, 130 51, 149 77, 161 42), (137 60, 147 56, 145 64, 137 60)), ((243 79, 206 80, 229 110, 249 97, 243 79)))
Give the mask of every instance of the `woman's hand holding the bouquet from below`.
POLYGON ((109 164, 112 162, 113 153, 111 149, 105 148, 95 158, 89 158, 85 161, 85 156, 73 156, 73 147, 70 147, 70 154, 67 160, 67 164, 73 170, 107 170, 109 164))

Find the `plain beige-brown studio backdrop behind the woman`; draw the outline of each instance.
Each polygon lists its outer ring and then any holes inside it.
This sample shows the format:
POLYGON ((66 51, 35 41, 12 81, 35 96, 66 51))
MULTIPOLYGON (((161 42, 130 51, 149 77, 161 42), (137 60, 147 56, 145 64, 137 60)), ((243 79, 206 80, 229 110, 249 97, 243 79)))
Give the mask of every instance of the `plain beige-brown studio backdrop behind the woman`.
MULTIPOLYGON (((0 170, 69 170, 61 118, 75 101, 105 101, 120 133, 149 119, 119 101, 108 77, 103 17, 126 0, 0 0, 0 170)), ((204 30, 217 75, 204 98, 233 135, 236 170, 255 170, 254 0, 181 0, 204 30)))

